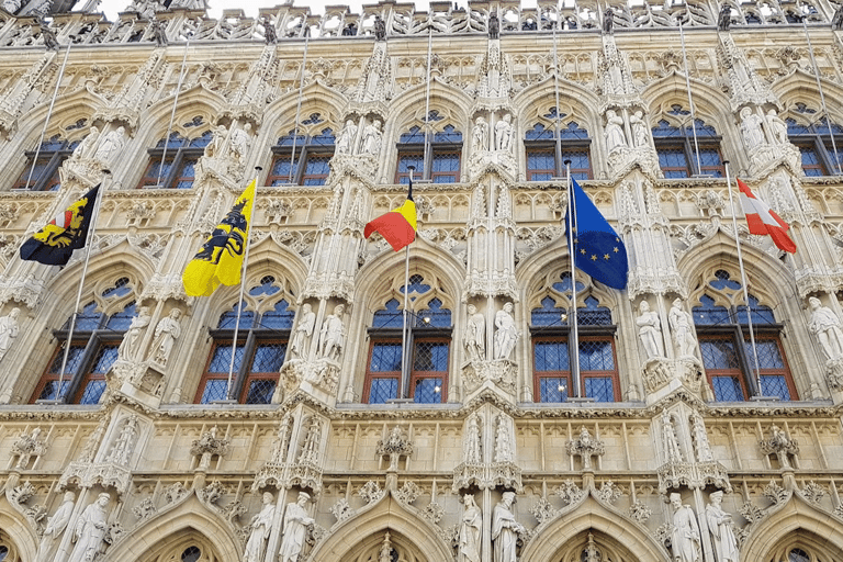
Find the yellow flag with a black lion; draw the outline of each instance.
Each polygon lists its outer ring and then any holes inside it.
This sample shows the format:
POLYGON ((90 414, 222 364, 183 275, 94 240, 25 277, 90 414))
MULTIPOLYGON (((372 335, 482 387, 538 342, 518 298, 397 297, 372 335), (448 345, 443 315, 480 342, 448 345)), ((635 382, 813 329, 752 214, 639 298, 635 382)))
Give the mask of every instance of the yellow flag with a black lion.
POLYGON ((190 296, 210 296, 216 288, 240 282, 240 268, 249 237, 251 210, 255 205, 255 181, 251 180, 225 218, 207 237, 202 249, 184 268, 181 281, 190 296))

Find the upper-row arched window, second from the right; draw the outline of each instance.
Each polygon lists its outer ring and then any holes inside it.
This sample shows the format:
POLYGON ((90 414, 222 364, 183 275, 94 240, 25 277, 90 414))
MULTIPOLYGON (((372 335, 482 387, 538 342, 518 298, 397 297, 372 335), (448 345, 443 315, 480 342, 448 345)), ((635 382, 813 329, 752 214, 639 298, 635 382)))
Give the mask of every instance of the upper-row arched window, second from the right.
POLYGON ((690 112, 682 105, 672 105, 652 131, 659 166, 665 178, 726 176, 720 135, 701 119, 696 119, 692 126, 690 112))

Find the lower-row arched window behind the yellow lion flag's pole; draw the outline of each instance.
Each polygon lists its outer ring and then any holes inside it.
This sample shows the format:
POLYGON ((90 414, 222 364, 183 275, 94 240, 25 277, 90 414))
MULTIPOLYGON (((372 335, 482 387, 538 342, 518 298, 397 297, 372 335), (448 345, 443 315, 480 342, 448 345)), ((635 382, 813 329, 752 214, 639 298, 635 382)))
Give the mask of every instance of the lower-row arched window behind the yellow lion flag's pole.
POLYGON ((266 276, 248 291, 249 302, 235 304, 220 316, 210 330, 213 346, 196 390, 196 404, 229 398, 240 404, 272 401, 295 316, 286 297, 292 301, 292 295, 284 294, 272 276, 266 276))

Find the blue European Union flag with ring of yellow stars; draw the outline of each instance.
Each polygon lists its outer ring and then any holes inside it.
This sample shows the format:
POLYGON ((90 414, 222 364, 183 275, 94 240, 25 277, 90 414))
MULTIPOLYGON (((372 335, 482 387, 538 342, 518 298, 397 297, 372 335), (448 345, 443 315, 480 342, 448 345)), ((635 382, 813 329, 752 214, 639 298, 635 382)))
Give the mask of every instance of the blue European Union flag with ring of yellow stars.
POLYGON ((571 178, 573 215, 565 215, 565 235, 574 235, 574 265, 592 279, 618 290, 627 288, 627 248, 618 233, 585 194, 583 188, 571 178), (573 222, 573 228, 571 223, 573 222))

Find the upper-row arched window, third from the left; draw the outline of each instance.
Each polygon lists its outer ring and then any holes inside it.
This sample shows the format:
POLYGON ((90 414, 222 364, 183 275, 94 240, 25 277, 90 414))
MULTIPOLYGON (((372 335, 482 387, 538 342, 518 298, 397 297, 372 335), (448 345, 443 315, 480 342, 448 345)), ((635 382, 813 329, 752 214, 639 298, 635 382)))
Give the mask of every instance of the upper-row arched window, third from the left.
POLYGON ((272 147, 272 165, 267 186, 324 186, 330 173, 336 137, 318 113, 301 123, 299 134, 291 128, 272 147))

